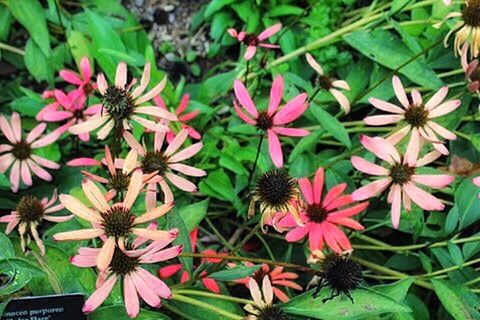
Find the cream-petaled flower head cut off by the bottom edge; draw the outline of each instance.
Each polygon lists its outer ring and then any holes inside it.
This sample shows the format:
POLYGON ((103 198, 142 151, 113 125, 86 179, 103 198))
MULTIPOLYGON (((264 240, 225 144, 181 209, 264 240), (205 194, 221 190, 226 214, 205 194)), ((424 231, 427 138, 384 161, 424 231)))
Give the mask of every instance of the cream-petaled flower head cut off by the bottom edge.
POLYGON ((262 290, 255 279, 248 280, 250 294, 255 302, 254 305, 247 304, 244 309, 250 313, 246 320, 288 320, 290 319, 285 312, 276 304, 273 304, 274 288, 270 283, 268 276, 260 278, 262 281, 262 290))

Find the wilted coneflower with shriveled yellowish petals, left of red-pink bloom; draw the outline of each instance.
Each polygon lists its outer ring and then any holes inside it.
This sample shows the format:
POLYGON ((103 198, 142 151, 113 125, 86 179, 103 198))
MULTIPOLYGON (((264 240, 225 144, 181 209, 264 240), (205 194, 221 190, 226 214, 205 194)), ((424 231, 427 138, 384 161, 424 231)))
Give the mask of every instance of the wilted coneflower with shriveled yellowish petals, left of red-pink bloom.
POLYGON ((275 217, 277 215, 283 217, 288 212, 298 221, 295 208, 298 197, 297 181, 287 172, 281 169, 267 171, 258 179, 253 190, 248 215, 255 214, 255 207, 258 203, 262 214, 262 228, 264 224, 271 224, 276 228, 278 219, 275 217))

